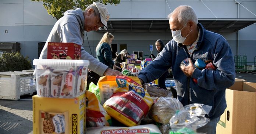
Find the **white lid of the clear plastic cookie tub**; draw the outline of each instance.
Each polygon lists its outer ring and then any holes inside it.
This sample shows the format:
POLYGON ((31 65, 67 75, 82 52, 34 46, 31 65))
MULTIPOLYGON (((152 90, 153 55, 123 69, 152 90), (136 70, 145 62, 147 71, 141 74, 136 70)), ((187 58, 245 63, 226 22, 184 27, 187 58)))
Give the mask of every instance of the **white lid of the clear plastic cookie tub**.
POLYGON ((49 66, 89 66, 88 60, 83 59, 34 59, 33 65, 49 66))

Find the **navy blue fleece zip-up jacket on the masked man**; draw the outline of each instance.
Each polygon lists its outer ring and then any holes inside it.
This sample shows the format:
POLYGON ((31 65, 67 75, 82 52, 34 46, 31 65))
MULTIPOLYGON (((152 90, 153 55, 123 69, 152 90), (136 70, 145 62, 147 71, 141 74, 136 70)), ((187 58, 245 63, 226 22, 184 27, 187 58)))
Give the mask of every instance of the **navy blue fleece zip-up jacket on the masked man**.
POLYGON ((159 56, 141 70, 138 77, 148 83, 172 67, 178 100, 184 106, 192 103, 212 106, 207 117, 215 119, 227 107, 225 89, 235 82, 235 63, 231 48, 223 36, 206 30, 200 23, 198 27, 200 37, 191 57, 186 46, 171 40, 159 56), (211 60, 217 69, 195 69, 192 77, 186 77, 179 65, 187 57, 193 63, 199 58, 204 61, 211 60), (193 82, 192 78, 197 79, 198 83, 193 82))

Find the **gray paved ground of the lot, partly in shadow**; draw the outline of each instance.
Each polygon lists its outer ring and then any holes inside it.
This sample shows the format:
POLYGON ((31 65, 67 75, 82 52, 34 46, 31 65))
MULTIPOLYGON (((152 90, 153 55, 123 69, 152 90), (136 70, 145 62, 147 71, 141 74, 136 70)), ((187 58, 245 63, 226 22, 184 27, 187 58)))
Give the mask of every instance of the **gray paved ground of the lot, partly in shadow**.
MULTIPOLYGON (((256 82, 253 73, 237 73, 236 78, 256 82)), ((19 101, 0 100, 0 134, 33 134, 32 111, 32 95, 22 96, 19 101)))

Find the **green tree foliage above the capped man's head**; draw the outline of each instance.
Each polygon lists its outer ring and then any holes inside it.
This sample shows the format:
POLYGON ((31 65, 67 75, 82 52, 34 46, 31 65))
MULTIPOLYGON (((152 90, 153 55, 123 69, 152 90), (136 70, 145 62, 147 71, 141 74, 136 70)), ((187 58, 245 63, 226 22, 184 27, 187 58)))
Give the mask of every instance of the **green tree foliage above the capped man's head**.
MULTIPOLYGON (((76 9, 80 7, 85 10, 93 0, 31 0, 31 1, 42 1, 43 6, 47 10, 48 14, 59 19, 63 17, 65 11, 70 9, 76 9)), ((103 4, 119 4, 120 0, 95 0, 94 2, 100 2, 103 4)))

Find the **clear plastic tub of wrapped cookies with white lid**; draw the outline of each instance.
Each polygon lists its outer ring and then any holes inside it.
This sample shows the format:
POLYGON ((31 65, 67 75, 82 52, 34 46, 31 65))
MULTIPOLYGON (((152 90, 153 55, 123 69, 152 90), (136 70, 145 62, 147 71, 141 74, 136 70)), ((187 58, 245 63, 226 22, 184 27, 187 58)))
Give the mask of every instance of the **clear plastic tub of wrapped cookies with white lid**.
POLYGON ((34 59, 33 65, 40 97, 74 98, 85 93, 89 61, 34 59))

